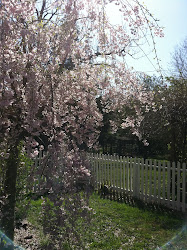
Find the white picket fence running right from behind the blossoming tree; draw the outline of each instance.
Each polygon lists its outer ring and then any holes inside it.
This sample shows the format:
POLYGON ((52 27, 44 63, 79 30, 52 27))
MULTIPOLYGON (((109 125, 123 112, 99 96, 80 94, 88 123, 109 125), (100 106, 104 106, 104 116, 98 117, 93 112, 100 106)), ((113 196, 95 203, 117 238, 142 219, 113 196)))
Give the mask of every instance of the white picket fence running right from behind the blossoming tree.
POLYGON ((106 184, 148 203, 187 211, 186 164, 89 154, 96 188, 106 184))

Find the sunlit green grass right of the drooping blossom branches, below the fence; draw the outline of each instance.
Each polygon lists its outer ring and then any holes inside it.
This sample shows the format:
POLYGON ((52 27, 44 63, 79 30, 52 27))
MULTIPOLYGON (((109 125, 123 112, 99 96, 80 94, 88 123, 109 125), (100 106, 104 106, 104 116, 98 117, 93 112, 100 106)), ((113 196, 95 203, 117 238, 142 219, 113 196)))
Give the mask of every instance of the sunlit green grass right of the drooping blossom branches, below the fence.
MULTIPOLYGON (((98 230, 100 241, 93 240, 90 249, 155 249, 168 242, 184 224, 179 214, 140 209, 98 196, 91 200, 91 206, 104 230, 98 230)), ((185 247, 187 244, 181 249, 185 247)))

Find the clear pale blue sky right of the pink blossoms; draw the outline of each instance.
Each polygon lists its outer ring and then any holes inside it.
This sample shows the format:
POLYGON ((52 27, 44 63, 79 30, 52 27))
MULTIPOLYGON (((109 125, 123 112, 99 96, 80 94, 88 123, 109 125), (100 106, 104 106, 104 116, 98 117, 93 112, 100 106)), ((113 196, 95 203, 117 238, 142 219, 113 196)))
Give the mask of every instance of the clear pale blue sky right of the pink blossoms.
MULTIPOLYGON (((156 48, 163 68, 162 73, 168 75, 171 54, 175 47, 187 37, 187 0, 140 0, 140 2, 144 2, 154 17, 160 20, 160 25, 165 27, 164 38, 156 39, 156 48)), ((153 55, 150 55, 149 59, 157 68, 153 55)), ((133 66, 138 71, 150 75, 157 74, 146 58, 133 61, 133 66)))

